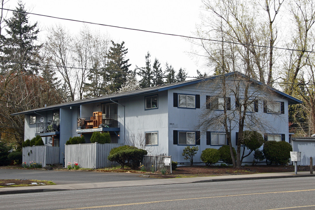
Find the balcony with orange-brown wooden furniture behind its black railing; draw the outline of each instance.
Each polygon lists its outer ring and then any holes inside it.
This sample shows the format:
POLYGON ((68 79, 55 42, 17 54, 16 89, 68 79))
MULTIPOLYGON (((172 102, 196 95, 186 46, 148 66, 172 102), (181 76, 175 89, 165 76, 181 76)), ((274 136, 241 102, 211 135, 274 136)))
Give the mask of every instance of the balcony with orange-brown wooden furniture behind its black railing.
MULTIPOLYGON (((95 114, 93 114, 95 115, 95 114)), ((77 133, 94 131, 120 131, 118 126, 119 116, 100 115, 77 118, 77 133)))

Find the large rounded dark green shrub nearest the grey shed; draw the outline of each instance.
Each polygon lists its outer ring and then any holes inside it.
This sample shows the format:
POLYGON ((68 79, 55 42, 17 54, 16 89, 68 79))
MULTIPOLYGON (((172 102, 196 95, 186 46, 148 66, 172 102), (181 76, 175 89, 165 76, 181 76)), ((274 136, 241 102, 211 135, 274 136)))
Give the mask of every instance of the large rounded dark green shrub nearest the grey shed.
POLYGON ((263 152, 270 164, 286 165, 289 162, 292 146, 285 141, 266 141, 263 152))

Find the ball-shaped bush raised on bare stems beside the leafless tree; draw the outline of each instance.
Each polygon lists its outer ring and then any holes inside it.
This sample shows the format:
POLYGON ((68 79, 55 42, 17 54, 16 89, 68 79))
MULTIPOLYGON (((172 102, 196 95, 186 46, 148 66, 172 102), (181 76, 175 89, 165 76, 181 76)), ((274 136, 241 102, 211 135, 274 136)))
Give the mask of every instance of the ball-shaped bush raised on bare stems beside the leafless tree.
POLYGON ((257 131, 244 131, 243 144, 251 151, 257 150, 264 144, 264 138, 257 131))

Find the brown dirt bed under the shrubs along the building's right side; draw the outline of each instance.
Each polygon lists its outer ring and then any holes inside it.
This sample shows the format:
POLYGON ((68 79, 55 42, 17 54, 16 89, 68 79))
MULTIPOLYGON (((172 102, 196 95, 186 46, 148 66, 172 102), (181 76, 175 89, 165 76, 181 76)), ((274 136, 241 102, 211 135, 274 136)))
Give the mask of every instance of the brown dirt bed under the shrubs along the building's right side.
MULTIPOLYGON (((298 166, 299 171, 309 171, 309 166, 298 166)), ((181 166, 172 171, 172 174, 150 174, 154 178, 179 178, 179 177, 201 177, 201 176, 226 176, 253 173, 277 173, 294 172, 294 166, 243 166, 240 168, 221 166, 181 166)))

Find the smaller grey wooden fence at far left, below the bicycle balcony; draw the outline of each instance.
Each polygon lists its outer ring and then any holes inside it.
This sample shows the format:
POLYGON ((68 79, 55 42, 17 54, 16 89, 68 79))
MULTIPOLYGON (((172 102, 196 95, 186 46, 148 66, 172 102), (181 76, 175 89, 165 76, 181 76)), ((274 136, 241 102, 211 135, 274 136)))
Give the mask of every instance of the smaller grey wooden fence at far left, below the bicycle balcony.
POLYGON ((22 150, 22 162, 36 162, 45 167, 48 164, 59 164, 60 147, 27 146, 22 150))

